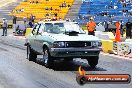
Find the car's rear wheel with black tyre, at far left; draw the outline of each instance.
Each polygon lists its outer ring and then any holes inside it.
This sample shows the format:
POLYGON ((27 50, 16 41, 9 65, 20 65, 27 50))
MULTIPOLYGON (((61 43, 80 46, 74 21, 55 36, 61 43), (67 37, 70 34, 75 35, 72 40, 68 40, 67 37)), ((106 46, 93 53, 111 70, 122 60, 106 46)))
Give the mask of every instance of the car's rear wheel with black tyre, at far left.
POLYGON ((27 46, 27 59, 29 61, 36 62, 37 54, 31 49, 30 46, 27 46))

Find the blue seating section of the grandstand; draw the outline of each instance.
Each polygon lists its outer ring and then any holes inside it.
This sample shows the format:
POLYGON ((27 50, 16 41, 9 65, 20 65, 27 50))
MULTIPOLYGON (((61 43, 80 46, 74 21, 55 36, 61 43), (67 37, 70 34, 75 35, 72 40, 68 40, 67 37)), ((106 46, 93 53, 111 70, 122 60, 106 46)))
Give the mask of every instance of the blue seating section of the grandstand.
POLYGON ((77 22, 85 24, 89 16, 93 16, 96 22, 123 20, 126 22, 132 19, 132 2, 120 0, 85 0, 78 12, 77 22))

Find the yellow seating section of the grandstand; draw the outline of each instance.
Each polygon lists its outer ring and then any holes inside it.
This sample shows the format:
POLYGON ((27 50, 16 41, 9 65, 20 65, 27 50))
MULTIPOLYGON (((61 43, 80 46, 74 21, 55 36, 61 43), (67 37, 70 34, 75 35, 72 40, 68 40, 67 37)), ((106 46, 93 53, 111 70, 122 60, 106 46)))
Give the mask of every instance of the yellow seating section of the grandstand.
POLYGON ((29 18, 32 14, 36 19, 49 19, 53 18, 54 14, 57 14, 58 18, 64 19, 73 2, 74 0, 34 0, 34 2, 27 0, 16 6, 10 15, 29 18), (36 3, 36 1, 38 2, 36 3), (66 7, 61 7, 64 1, 66 2, 66 7))

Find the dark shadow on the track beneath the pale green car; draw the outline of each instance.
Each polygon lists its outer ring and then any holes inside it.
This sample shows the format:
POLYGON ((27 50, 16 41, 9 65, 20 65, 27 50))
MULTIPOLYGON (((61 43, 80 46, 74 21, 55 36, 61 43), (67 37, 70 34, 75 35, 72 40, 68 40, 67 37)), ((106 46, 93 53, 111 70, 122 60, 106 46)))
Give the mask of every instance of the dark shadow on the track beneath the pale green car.
MULTIPOLYGON (((37 63, 44 66, 41 58, 38 58, 37 63)), ((55 71, 78 71, 79 66, 82 66, 85 71, 107 71, 104 68, 98 67, 98 65, 93 69, 87 63, 76 60, 69 62, 64 60, 54 61, 51 69, 55 71)))

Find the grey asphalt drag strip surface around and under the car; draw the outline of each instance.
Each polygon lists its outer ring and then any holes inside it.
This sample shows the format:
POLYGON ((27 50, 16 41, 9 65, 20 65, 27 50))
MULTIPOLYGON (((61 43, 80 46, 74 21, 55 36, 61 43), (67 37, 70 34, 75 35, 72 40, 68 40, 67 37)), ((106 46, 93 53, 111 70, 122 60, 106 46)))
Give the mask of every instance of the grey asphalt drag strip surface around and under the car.
POLYGON ((76 82, 81 65, 88 74, 130 74, 132 61, 100 54, 97 68, 91 69, 86 60, 56 61, 52 69, 26 59, 25 40, 0 37, 0 88, 132 88, 130 84, 85 84, 76 82))

